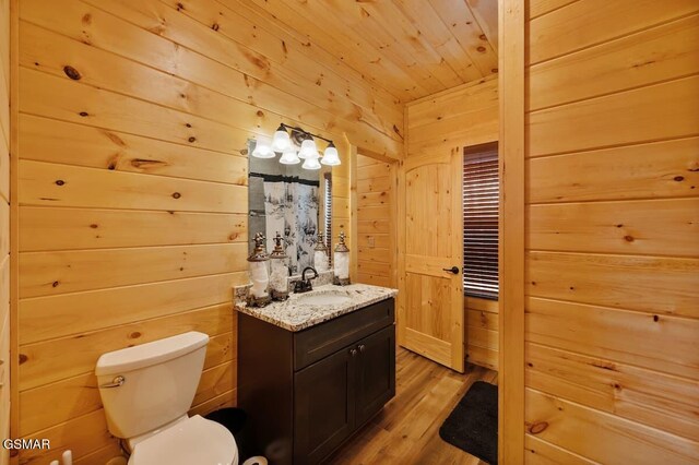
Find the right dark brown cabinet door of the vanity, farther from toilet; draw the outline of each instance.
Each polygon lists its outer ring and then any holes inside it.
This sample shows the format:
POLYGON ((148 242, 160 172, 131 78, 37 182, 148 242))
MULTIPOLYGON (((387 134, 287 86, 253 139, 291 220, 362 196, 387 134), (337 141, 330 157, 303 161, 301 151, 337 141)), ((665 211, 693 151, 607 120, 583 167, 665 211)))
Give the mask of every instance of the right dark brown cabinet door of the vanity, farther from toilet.
POLYGON ((395 327, 357 343, 356 422, 366 422, 395 395, 395 327))

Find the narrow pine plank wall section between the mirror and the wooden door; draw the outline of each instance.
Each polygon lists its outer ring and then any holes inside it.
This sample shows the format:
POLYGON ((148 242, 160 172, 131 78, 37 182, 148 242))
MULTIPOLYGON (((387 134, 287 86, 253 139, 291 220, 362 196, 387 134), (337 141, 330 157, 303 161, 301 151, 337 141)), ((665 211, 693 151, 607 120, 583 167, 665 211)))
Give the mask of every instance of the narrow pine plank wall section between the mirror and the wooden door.
POLYGON ((357 281, 395 287, 394 163, 357 154, 357 281))

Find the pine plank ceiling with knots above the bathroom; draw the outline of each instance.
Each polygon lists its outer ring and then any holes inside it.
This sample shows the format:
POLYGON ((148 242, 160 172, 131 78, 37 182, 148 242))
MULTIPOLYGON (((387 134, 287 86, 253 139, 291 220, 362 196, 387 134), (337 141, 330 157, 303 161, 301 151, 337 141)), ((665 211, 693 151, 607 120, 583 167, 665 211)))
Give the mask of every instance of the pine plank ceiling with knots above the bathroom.
POLYGON ((402 102, 497 73, 497 0, 253 0, 402 102))

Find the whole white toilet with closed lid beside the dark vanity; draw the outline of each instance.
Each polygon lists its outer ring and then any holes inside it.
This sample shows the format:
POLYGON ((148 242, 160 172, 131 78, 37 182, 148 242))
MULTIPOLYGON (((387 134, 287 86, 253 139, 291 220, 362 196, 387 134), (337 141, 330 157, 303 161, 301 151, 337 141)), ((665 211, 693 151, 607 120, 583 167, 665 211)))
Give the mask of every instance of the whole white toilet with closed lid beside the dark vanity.
POLYGON ((209 336, 178 336, 104 354, 95 374, 109 432, 126 441, 129 465, 237 465, 224 426, 187 416, 209 336))

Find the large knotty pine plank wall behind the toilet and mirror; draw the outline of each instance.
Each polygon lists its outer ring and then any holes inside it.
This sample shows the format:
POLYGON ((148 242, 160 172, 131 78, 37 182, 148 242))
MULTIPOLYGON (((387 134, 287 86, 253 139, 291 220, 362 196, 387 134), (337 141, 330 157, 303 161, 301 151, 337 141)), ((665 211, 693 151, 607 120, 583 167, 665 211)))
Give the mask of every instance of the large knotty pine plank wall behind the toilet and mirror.
POLYGON ((339 228, 348 143, 400 157, 403 112, 250 2, 19 4, 13 428, 51 440, 22 464, 67 448, 78 464, 104 463, 118 454, 92 374, 105 351, 205 332, 192 413, 235 404, 230 286, 247 282, 248 138, 285 121, 335 139, 339 228))

